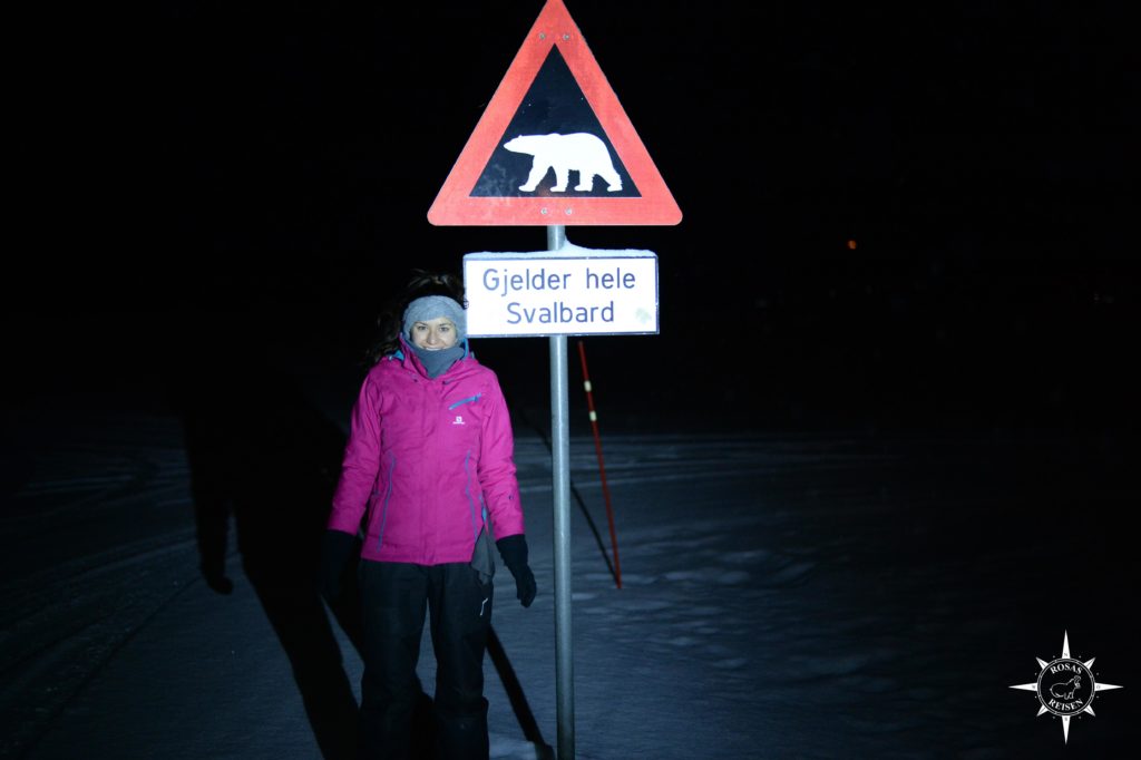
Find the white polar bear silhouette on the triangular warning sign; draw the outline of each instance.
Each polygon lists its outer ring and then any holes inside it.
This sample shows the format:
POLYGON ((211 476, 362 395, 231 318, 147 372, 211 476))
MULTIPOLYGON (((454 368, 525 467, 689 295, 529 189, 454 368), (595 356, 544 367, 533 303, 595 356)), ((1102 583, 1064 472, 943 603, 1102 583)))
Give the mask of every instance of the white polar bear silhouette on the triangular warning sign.
POLYGON ((519 135, 504 143, 503 148, 532 156, 531 173, 526 184, 519 186, 524 192, 531 193, 539 187, 549 169, 555 170, 552 193, 566 192, 572 171, 578 172, 576 191, 592 191, 596 175, 606 180, 606 189, 610 193, 622 189, 622 178, 614 169, 606 144, 590 132, 519 135))

